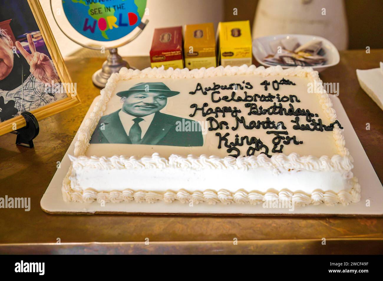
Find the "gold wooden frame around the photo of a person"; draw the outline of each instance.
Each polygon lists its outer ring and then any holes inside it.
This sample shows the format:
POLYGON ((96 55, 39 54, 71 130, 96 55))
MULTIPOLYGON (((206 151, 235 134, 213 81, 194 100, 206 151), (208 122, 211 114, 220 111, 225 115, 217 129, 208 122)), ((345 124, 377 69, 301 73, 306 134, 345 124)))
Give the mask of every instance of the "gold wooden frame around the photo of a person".
MULTIPOLYGON (((78 105, 80 103, 80 98, 77 94, 76 87, 70 87, 70 85, 73 85, 72 79, 70 78, 67 67, 64 64, 64 60, 59 51, 59 47, 57 46, 56 40, 53 37, 51 28, 49 27, 40 2, 38 0, 27 1, 29 7, 31 8, 34 19, 36 20, 36 23, 40 29, 48 52, 51 55, 54 67, 56 67, 56 71, 59 75, 61 85, 65 89, 65 93, 67 93, 67 97, 63 98, 62 100, 54 101, 52 103, 30 111, 36 117, 37 120, 41 120, 53 114, 64 111, 65 109, 78 105), (68 87, 70 87, 70 89, 68 87)), ((0 136, 25 126, 25 119, 21 115, 5 120, 3 122, 0 122, 0 136)))

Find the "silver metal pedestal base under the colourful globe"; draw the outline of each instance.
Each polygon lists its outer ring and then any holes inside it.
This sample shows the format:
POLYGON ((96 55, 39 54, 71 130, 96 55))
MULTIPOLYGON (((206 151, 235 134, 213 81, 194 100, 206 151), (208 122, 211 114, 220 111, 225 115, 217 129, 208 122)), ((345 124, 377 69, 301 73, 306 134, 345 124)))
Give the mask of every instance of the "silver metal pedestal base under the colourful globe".
POLYGON ((99 88, 105 88, 106 82, 108 81, 110 75, 112 75, 112 73, 119 72, 121 67, 135 69, 134 67, 130 67, 126 60, 122 59, 122 57, 117 53, 117 48, 109 49, 108 57, 102 64, 102 68, 97 70, 92 75, 93 84, 99 88))

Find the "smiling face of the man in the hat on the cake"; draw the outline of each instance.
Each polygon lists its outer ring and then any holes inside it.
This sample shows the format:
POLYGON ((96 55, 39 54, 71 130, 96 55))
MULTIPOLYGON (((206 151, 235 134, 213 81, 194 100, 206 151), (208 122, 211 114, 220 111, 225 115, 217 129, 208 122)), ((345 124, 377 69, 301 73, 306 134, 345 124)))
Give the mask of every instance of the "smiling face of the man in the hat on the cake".
POLYGON ((165 107, 167 97, 161 93, 139 92, 121 98, 122 110, 128 114, 141 117, 147 116, 165 107))

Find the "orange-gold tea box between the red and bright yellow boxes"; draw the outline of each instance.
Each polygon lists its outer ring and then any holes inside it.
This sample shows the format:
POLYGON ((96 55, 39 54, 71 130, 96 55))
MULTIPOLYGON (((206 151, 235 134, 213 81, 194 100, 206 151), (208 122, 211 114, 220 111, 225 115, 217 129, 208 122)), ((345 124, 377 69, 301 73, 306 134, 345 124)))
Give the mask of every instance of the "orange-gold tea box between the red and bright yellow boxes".
POLYGON ((213 23, 185 25, 183 52, 185 67, 216 67, 216 42, 213 23))

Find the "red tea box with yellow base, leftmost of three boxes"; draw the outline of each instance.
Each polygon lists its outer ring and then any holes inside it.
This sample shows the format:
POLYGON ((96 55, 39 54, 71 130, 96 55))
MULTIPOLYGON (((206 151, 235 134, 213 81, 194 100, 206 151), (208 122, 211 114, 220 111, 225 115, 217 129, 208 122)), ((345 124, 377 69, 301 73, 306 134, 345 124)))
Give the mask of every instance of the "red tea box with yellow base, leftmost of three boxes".
POLYGON ((152 67, 183 68, 181 26, 154 29, 150 62, 152 67))

